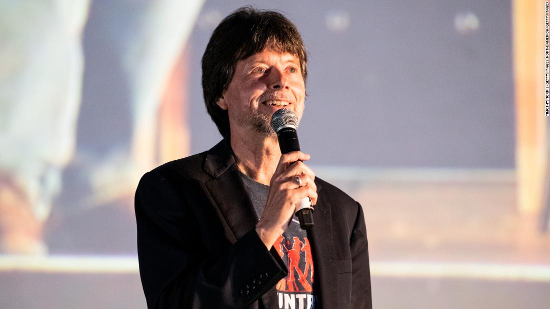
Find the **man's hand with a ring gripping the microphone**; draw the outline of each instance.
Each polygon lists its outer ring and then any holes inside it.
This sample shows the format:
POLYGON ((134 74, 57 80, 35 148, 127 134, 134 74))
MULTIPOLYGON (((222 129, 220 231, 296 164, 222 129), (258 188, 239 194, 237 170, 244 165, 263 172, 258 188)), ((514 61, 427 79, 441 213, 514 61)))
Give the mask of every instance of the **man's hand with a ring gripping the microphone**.
POLYGON ((317 204, 317 186, 313 182, 315 173, 302 162, 309 159, 310 155, 301 151, 283 154, 271 177, 266 206, 256 224, 256 233, 268 250, 287 230, 301 199, 309 196, 312 204, 317 204), (298 187, 296 176, 301 179, 301 187, 298 187))

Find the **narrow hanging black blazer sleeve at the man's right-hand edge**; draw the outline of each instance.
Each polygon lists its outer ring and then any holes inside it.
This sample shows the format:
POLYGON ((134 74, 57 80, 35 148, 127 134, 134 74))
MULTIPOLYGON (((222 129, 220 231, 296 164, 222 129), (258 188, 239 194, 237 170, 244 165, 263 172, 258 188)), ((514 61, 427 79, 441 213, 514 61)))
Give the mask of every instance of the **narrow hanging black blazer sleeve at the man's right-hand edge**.
POLYGON ((351 308, 372 308, 371 273, 363 207, 357 203, 357 217, 350 238, 351 308))

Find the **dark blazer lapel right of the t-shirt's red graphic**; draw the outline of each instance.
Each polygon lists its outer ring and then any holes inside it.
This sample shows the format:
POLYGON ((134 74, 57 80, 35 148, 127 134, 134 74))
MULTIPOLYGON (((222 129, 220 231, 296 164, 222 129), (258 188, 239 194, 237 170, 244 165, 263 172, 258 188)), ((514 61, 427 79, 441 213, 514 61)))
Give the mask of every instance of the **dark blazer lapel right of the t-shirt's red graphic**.
POLYGON ((337 308, 338 282, 337 269, 334 267, 334 241, 332 237, 332 212, 331 201, 328 196, 320 194, 321 186, 317 183, 319 199, 313 210, 313 227, 307 231, 311 239, 313 253, 313 266, 315 267, 316 295, 321 296, 321 304, 324 308, 337 308))

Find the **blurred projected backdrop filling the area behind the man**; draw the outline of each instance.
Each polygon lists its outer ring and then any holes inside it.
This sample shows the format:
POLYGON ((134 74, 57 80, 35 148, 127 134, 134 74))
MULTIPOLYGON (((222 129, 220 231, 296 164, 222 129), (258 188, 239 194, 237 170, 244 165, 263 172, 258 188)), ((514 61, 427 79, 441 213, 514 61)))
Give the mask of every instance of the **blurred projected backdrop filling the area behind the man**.
POLYGON ((543 1, 0 1, 0 308, 145 308, 139 178, 221 139, 242 5, 309 50, 302 148, 364 207, 375 308, 550 307, 543 1))

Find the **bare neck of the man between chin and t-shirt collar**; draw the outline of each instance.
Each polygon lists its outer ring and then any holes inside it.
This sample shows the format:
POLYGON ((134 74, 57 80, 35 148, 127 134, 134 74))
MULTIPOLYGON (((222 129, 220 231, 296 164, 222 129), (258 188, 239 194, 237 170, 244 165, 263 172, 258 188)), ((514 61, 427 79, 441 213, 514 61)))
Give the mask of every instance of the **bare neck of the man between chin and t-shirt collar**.
POLYGON ((277 136, 273 134, 266 137, 259 133, 242 134, 232 131, 231 148, 239 170, 255 181, 269 186, 281 158, 277 136))

